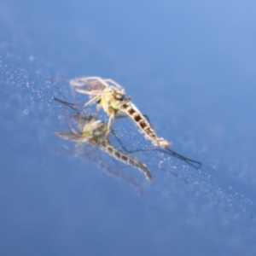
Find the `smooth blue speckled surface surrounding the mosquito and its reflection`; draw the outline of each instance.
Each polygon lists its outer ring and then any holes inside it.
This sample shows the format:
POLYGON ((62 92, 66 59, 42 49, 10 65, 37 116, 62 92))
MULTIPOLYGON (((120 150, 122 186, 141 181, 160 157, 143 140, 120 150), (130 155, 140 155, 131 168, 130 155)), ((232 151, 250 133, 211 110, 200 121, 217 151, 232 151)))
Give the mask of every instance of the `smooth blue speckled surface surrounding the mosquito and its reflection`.
MULTIPOLYGON (((254 1, 2 0, 1 255, 255 255, 255 12, 254 1), (120 167, 138 195, 63 152, 49 77, 85 75, 122 84, 201 171, 136 154, 154 177, 120 167)), ((113 127, 128 148, 150 145, 129 120, 113 127)))

